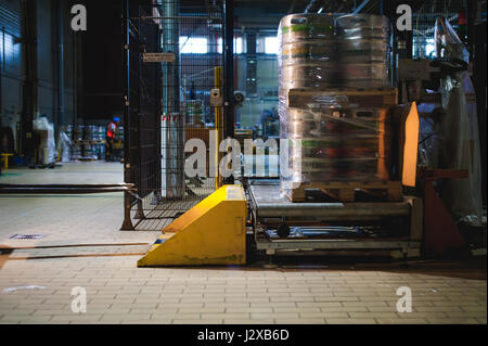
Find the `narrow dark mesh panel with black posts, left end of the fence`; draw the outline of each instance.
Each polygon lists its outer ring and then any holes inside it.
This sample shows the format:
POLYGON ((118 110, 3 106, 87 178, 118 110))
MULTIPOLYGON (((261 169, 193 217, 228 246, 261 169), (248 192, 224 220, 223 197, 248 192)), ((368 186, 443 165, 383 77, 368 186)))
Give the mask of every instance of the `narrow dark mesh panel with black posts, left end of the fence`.
POLYGON ((124 39, 124 179, 134 183, 137 195, 125 193, 123 230, 132 230, 130 209, 138 208, 142 217, 143 200, 160 189, 159 78, 160 67, 143 65, 145 50, 160 51, 160 36, 156 23, 138 20, 150 16, 151 9, 139 3, 123 2, 124 39))

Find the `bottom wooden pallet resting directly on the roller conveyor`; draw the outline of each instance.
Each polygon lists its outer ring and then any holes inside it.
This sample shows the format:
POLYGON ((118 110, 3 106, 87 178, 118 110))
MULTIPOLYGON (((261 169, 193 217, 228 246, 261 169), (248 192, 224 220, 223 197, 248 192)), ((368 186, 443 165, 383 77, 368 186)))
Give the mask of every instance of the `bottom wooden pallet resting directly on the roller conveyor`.
POLYGON ((298 188, 286 192, 292 202, 305 202, 306 191, 320 190, 326 195, 341 202, 355 202, 356 190, 361 190, 373 196, 382 196, 386 201, 402 201, 402 185, 400 181, 377 182, 303 182, 298 188))

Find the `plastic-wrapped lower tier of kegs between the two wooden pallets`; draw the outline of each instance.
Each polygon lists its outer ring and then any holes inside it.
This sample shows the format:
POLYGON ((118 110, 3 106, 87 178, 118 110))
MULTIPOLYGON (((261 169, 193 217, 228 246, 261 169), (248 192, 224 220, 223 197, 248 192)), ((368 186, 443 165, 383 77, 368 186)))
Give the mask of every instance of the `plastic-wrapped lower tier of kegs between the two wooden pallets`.
MULTIPOLYGON (((283 178, 291 183, 328 181, 388 180, 390 166, 390 129, 387 108, 356 112, 287 108, 281 132, 301 144, 301 174, 283 178)), ((294 168, 291 163, 290 168, 294 168)))

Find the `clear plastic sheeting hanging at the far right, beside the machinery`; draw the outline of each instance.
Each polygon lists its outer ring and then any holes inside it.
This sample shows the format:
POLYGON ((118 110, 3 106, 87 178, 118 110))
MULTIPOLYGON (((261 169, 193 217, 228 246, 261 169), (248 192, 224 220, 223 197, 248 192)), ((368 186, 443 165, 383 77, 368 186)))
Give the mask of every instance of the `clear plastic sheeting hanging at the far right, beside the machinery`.
MULTIPOLYGON (((468 62, 470 53, 448 21, 436 21, 437 57, 468 62)), ((446 115, 437 124, 438 167, 467 169, 468 179, 447 180, 441 197, 457 220, 472 225, 481 221, 481 165, 476 99, 467 71, 453 73, 440 82, 446 115)))

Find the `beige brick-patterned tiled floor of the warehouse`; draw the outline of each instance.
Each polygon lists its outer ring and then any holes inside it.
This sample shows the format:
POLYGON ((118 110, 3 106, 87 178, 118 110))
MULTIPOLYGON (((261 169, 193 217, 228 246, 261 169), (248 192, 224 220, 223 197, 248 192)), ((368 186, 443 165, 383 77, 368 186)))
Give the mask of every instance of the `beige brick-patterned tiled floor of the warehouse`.
MULTIPOLYGON (((121 169, 9 169, 0 183, 119 182, 121 169)), ((121 232, 121 193, 0 195, 1 245, 105 244, 0 255, 0 323, 487 323, 486 267, 137 268, 159 232, 121 232), (120 243, 143 245, 110 245, 120 243), (72 312, 75 286, 87 291, 85 313, 72 312), (397 312, 400 286, 412 312, 397 312)))

